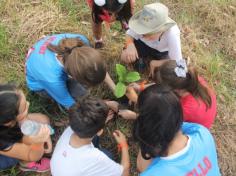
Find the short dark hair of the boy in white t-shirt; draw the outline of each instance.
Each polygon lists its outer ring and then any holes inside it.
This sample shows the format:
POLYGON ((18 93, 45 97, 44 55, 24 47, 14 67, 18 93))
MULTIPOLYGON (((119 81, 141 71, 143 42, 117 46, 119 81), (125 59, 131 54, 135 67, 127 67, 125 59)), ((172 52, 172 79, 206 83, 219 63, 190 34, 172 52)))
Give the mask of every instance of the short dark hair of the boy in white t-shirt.
POLYGON ((69 110, 70 127, 80 138, 91 138, 104 128, 108 111, 104 101, 84 97, 69 110))

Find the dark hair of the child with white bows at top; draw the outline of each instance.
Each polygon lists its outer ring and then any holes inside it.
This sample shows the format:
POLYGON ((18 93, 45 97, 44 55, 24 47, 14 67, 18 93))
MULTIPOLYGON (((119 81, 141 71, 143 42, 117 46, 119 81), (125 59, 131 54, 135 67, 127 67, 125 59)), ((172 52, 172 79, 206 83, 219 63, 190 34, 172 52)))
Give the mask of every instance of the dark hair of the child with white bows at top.
POLYGON ((117 13, 117 19, 118 21, 126 21, 128 22, 129 19, 132 16, 132 9, 131 9, 131 2, 130 0, 127 0, 126 3, 121 4, 118 2, 118 0, 106 0, 106 4, 102 7, 96 5, 93 2, 92 6, 92 18, 95 23, 101 23, 102 19, 100 19, 100 15, 103 15, 103 9, 110 11, 110 12, 116 12, 117 13))

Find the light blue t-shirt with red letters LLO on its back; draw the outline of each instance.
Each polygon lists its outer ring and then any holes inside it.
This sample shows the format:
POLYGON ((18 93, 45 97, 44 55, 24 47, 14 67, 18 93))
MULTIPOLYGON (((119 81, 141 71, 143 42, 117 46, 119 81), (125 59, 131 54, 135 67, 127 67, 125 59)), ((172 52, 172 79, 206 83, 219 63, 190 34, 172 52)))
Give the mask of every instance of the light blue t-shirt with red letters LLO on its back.
POLYGON ((156 157, 141 176, 206 175, 219 176, 215 143, 210 132, 201 125, 184 123, 187 146, 168 157, 156 157))

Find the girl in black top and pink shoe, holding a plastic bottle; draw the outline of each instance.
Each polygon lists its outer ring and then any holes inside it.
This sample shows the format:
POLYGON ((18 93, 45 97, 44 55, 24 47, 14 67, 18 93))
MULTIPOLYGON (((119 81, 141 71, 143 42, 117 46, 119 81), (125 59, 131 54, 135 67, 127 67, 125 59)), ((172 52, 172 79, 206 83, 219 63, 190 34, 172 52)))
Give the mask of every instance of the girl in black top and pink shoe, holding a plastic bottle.
POLYGON ((21 90, 13 85, 0 85, 0 170, 17 163, 23 171, 46 172, 50 169, 49 159, 42 158, 44 153, 52 150, 48 117, 28 114, 28 108, 29 103, 21 90), (27 119, 45 125, 36 135, 25 136, 20 126, 27 119))

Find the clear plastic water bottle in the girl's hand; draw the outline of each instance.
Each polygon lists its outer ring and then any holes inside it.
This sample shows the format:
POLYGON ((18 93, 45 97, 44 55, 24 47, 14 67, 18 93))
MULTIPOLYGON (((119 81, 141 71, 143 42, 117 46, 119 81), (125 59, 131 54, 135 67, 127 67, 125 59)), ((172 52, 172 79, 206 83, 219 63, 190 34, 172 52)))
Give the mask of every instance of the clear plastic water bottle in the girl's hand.
MULTIPOLYGON (((21 124, 21 132, 26 136, 36 135, 42 125, 42 123, 33 120, 26 120, 21 124)), ((50 129, 50 135, 54 134, 54 129, 50 125, 48 125, 48 128, 50 129)))

